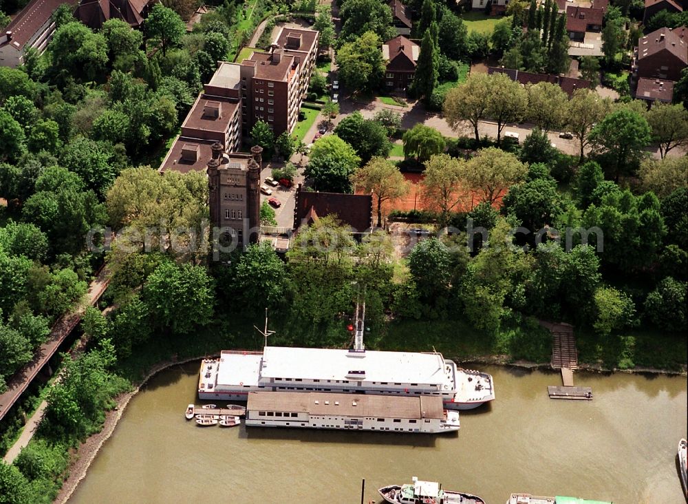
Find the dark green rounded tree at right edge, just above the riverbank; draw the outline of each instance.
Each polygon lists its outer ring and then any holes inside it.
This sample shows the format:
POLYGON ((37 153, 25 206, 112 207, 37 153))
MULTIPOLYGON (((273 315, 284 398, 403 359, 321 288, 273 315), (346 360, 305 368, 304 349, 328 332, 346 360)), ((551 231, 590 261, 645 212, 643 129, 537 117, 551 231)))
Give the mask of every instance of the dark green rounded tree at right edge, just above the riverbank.
POLYGON ((678 282, 666 277, 657 288, 647 295, 645 317, 655 326, 664 330, 681 331, 686 320, 686 282, 678 282))

